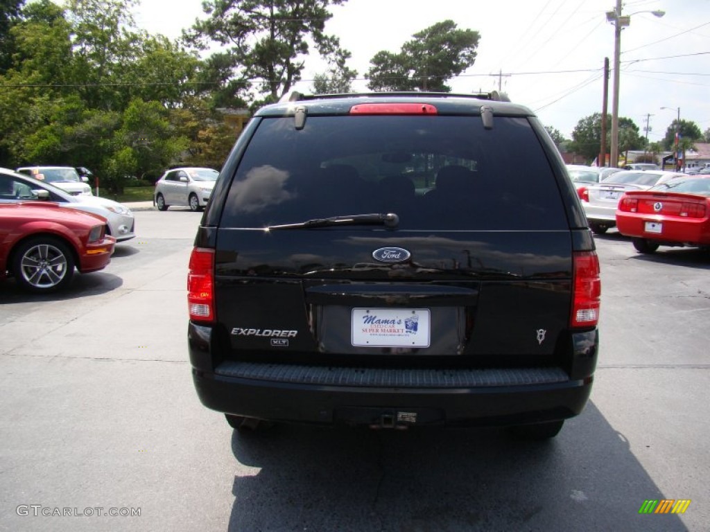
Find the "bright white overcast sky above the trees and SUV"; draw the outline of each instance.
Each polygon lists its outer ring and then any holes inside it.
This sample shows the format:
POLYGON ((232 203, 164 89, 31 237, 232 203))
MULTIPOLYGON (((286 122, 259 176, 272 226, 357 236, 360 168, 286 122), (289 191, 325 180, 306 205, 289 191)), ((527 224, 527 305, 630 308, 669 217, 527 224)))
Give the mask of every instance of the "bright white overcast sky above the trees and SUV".
MULTIPOLYGON (((606 11, 615 0, 349 0, 332 6, 327 33, 350 50, 359 72, 354 89, 376 52, 398 52, 414 33, 451 19, 481 35, 475 64, 449 82, 454 92, 498 89, 524 104, 546 126, 571 138, 580 118, 601 113, 603 61, 613 68, 614 30, 606 11), (502 73, 502 76, 499 75, 502 73)), ((164 0, 142 0, 138 26, 169 38, 204 17, 201 0, 182 0, 165 9, 164 0)), ((621 33, 619 115, 631 118, 648 139, 660 140, 677 117, 710 128, 710 0, 628 0, 631 23, 621 33), (646 11, 665 11, 657 18, 646 11), (670 107, 671 110, 660 109, 670 107), (648 116, 650 115, 650 117, 648 116)), ((304 80, 325 70, 306 62, 304 80)), ((296 89, 309 92, 311 83, 296 89)), ((611 113, 613 74, 609 79, 611 113)))

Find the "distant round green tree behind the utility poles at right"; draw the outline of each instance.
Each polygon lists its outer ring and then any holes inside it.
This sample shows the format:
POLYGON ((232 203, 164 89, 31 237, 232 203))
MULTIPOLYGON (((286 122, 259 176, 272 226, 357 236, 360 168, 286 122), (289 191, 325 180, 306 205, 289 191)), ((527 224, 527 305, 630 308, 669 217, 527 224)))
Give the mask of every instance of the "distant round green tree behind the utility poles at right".
MULTIPOLYGON (((618 127, 619 153, 643 148, 645 139, 640 136, 639 128, 633 123, 633 120, 620 116, 618 127)), ((606 116, 606 128, 607 131, 611 131, 611 115, 606 116)), ((610 136, 607 136, 607 143, 611 140, 610 136)), ((607 144, 606 153, 610 153, 609 147, 610 144, 607 144)), ((572 131, 572 143, 569 148, 589 161, 599 155, 601 151, 601 113, 594 113, 577 122, 577 126, 572 131)), ((616 162, 612 161, 611 164, 616 165, 616 162)))

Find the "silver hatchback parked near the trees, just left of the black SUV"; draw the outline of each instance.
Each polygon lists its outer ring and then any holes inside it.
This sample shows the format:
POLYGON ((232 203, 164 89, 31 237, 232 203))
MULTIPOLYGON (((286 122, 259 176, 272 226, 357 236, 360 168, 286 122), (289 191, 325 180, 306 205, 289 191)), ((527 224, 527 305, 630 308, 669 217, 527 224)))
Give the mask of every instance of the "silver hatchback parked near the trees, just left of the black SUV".
POLYGON ((200 211, 207 205, 219 172, 212 168, 173 168, 155 183, 155 205, 167 211, 171 205, 187 205, 200 211))

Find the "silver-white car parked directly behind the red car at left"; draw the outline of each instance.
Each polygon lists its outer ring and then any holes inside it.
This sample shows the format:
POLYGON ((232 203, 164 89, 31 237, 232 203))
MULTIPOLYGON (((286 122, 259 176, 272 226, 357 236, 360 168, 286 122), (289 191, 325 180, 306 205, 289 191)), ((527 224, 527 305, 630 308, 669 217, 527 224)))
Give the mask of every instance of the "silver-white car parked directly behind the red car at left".
POLYGON ((98 196, 72 196, 51 183, 0 168, 0 203, 33 200, 54 201, 70 209, 98 214, 106 218, 107 234, 116 238, 117 242, 136 236, 133 213, 125 205, 98 196))

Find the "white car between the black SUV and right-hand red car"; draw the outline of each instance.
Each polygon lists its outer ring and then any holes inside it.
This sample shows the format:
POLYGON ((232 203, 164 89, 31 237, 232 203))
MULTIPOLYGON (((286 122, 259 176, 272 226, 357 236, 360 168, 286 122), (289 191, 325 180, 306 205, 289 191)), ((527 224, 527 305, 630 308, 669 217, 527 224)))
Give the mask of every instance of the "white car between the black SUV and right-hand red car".
POLYGON ((621 170, 597 184, 577 187, 589 228, 597 235, 616 226, 616 207, 624 192, 648 190, 653 185, 677 177, 679 172, 662 170, 621 170))

